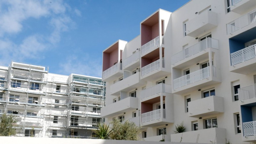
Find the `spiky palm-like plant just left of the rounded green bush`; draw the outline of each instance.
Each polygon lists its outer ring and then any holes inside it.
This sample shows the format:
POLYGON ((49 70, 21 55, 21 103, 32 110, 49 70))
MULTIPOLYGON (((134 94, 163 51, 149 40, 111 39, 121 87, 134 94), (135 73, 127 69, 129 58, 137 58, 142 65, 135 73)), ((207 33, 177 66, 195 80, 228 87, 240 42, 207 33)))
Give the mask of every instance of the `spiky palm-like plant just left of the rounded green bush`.
POLYGON ((104 139, 104 140, 108 140, 109 136, 112 132, 112 130, 109 130, 109 125, 106 124, 99 124, 97 126, 99 129, 97 130, 93 130, 93 132, 95 133, 94 135, 92 135, 93 137, 97 137, 99 139, 104 139))

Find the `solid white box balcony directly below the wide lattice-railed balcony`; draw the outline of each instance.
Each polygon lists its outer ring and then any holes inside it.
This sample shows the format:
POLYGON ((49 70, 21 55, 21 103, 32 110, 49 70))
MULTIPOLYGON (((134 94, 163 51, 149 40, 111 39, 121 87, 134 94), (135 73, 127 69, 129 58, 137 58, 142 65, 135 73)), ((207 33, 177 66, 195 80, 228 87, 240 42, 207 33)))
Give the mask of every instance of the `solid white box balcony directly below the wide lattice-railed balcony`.
POLYGON ((209 96, 188 102, 189 117, 205 117, 224 112, 223 97, 209 96))

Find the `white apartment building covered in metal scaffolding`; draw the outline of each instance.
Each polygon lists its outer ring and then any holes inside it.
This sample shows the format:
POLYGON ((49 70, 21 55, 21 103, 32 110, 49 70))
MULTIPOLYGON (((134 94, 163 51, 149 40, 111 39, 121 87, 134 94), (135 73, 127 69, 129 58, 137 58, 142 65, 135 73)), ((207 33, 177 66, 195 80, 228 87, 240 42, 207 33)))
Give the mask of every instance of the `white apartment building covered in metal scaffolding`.
POLYGON ((101 78, 49 73, 48 66, 12 62, 0 66, 0 115, 17 119, 16 136, 91 138, 102 122, 101 78))

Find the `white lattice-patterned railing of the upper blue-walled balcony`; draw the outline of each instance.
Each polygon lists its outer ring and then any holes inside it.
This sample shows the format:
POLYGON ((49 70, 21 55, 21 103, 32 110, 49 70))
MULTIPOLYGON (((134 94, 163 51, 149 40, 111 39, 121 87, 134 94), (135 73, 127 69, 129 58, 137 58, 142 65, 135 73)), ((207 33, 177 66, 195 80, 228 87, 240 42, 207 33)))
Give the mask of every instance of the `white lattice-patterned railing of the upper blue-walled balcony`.
POLYGON ((230 54, 231 65, 244 62, 256 56, 256 44, 230 54))

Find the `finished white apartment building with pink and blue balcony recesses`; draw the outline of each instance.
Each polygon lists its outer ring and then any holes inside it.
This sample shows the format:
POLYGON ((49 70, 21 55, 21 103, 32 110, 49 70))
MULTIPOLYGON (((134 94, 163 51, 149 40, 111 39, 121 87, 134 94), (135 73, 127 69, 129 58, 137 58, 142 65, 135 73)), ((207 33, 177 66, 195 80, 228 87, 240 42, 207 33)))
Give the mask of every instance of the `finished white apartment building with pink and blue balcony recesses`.
MULTIPOLYGON (((103 50, 101 117, 144 140, 249 144, 256 138, 256 0, 191 0, 157 10, 140 35, 103 50), (184 123, 184 133, 174 133, 184 123)), ((255 141, 256 142, 256 141, 255 141)))

